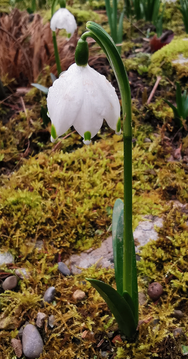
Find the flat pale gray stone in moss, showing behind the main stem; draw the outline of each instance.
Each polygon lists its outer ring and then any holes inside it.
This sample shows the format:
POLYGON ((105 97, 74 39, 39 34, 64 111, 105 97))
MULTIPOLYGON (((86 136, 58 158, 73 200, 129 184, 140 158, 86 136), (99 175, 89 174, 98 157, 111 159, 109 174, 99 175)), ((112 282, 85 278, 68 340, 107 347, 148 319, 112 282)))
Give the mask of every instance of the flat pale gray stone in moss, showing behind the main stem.
MULTIPOLYGON (((154 229, 156 227, 162 227, 162 218, 152 215, 144 216, 145 221, 140 221, 137 228, 135 229, 133 236, 137 239, 139 245, 135 247, 136 252, 139 251, 139 247, 148 243, 150 240, 158 238, 158 233, 154 229)), ((97 267, 102 266, 103 268, 113 268, 113 248, 112 248, 112 237, 107 238, 102 242, 101 247, 95 250, 82 252, 80 255, 72 255, 65 262, 70 266, 72 274, 79 274, 82 272, 81 268, 91 267, 96 264, 97 267)))

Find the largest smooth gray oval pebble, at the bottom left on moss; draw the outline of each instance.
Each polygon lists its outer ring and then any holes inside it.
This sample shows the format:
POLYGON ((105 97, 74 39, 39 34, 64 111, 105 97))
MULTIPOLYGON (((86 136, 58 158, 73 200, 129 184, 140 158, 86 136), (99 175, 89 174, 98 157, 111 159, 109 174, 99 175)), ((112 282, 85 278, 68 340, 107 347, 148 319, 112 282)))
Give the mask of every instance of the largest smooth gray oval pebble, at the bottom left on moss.
POLYGON ((29 359, 36 359, 40 356, 43 349, 43 341, 37 328, 28 324, 23 330, 22 335, 23 354, 29 359))

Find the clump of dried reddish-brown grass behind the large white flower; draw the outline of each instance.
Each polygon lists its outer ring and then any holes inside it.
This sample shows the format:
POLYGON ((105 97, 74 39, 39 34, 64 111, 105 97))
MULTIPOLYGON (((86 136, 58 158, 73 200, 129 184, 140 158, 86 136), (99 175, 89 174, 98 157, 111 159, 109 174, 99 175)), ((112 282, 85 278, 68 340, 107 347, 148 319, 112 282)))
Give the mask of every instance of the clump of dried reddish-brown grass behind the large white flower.
MULTIPOLYGON (((74 62, 77 33, 67 41, 57 36, 62 71, 74 62)), ((46 65, 57 75, 50 23, 43 24, 39 14, 14 9, 0 18, 0 75, 9 79, 37 81, 46 65)))

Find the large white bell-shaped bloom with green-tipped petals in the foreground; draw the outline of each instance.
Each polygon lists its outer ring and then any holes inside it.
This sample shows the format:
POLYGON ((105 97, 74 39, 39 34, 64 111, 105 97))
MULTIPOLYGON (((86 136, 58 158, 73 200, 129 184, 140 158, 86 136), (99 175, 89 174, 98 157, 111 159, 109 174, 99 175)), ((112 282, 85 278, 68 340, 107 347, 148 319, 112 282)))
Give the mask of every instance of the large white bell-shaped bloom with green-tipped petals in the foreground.
POLYGON ((55 142, 69 127, 89 145, 103 119, 116 134, 121 133, 120 104, 114 87, 89 65, 73 64, 49 88, 48 114, 52 122, 51 141, 55 142))

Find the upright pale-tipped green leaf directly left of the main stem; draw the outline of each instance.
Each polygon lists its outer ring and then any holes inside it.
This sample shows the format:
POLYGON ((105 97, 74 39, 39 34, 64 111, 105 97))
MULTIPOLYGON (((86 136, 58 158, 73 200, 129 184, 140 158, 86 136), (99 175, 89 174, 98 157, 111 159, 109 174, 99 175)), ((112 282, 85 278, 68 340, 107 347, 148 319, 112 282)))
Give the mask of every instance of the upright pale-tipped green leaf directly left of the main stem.
POLYGON ((123 223, 122 221, 121 223, 119 223, 120 213, 122 210, 123 201, 121 201, 121 199, 117 199, 115 201, 112 214, 112 245, 114 256, 115 281, 119 294, 123 293, 123 223))

